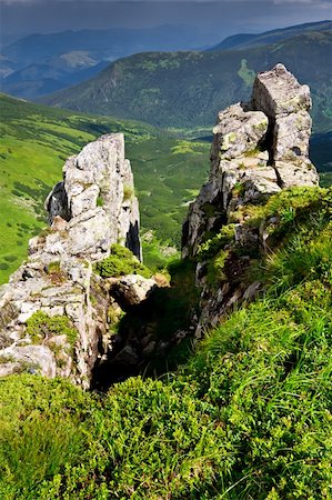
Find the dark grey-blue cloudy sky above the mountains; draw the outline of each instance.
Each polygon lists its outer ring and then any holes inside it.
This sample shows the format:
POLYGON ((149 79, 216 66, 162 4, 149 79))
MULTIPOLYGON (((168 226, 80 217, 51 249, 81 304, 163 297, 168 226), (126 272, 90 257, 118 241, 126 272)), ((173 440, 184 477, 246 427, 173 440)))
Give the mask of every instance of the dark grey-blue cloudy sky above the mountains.
POLYGON ((332 0, 0 0, 2 37, 67 29, 187 24, 227 36, 332 19, 332 0))

